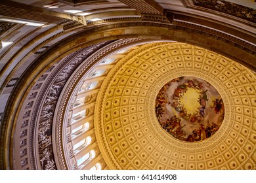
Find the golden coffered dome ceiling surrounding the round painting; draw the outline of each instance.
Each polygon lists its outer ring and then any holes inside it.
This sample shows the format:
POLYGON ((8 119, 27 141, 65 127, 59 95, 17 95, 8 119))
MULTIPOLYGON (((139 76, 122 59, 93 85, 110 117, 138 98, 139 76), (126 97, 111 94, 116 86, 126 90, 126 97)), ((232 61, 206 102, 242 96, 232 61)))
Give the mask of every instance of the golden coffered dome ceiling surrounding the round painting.
POLYGON ((255 73, 224 56, 178 42, 145 44, 119 59, 102 84, 100 151, 111 169, 255 169, 255 90, 255 73), (223 124, 203 141, 175 139, 156 118, 158 92, 181 76, 202 78, 223 99, 223 124))

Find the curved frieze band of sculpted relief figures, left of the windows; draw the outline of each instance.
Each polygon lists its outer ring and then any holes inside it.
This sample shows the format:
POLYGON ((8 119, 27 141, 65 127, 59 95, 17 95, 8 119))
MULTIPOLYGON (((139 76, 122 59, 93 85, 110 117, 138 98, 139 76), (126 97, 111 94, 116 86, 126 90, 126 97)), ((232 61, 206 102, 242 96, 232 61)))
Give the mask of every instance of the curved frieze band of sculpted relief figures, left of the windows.
MULTIPOLYGON (((83 50, 74 52, 68 56, 68 58, 62 61, 62 64, 54 69, 51 76, 47 79, 44 88, 42 88, 40 95, 44 95, 46 90, 48 90, 48 92, 43 101, 38 129, 38 152, 41 169, 56 169, 52 142, 53 115, 54 108, 56 107, 58 97, 64 87, 64 84, 66 84, 69 76, 74 72, 78 65, 80 65, 93 52, 107 43, 108 42, 101 42, 84 48, 83 50)), ((39 107, 41 103, 42 101, 37 101, 37 106, 35 108, 39 107)), ((34 112, 38 114, 38 110, 34 110, 34 112)))

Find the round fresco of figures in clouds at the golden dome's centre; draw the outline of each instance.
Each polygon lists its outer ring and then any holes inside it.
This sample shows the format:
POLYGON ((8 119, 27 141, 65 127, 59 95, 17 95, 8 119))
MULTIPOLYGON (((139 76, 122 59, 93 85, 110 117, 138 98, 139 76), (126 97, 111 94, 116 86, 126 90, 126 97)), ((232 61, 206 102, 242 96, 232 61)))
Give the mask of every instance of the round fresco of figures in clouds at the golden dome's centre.
POLYGON ((176 139, 203 141, 223 123, 224 104, 209 82, 182 76, 165 84, 156 97, 156 117, 161 127, 176 139))

